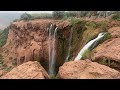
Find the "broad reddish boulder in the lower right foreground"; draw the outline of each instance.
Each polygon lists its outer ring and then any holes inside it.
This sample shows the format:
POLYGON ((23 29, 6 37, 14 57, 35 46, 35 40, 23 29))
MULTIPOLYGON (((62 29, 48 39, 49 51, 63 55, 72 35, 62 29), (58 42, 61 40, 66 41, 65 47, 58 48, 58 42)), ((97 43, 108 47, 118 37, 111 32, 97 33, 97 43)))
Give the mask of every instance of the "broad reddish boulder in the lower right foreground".
POLYGON ((120 73, 90 60, 70 61, 59 68, 61 79, 118 79, 120 73))

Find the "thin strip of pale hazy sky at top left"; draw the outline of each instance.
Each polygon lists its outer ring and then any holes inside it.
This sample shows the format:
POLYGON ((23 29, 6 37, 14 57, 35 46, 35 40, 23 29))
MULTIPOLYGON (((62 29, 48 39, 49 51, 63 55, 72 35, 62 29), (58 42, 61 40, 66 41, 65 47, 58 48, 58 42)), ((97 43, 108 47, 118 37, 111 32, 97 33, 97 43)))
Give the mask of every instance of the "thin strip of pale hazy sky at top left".
POLYGON ((0 11, 0 13, 52 13, 52 11, 0 11))

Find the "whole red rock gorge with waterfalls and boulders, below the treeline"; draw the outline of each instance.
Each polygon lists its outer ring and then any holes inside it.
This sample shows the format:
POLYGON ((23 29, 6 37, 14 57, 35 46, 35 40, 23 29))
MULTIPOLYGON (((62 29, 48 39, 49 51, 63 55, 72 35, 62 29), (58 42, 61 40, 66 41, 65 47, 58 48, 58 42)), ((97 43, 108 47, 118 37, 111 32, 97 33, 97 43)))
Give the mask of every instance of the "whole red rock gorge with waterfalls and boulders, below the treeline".
POLYGON ((98 16, 12 22, 0 79, 120 79, 120 21, 98 16))

